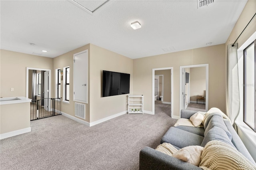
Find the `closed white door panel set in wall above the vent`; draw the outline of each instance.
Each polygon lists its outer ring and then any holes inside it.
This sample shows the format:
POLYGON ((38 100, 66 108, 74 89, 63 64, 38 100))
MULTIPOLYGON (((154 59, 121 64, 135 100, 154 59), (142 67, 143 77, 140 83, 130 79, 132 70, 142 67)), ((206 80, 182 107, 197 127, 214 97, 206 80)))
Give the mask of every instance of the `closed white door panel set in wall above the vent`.
POLYGON ((88 50, 74 54, 74 101, 87 103, 88 50))

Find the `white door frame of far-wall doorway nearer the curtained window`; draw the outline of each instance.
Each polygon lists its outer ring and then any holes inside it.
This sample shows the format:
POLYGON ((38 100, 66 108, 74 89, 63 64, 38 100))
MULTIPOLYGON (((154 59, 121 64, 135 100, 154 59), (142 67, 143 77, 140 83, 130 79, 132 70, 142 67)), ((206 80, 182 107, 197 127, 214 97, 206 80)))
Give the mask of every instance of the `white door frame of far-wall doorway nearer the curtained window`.
POLYGON ((185 65, 185 66, 180 66, 180 110, 179 110, 179 113, 180 111, 182 110, 182 99, 183 99, 183 96, 182 96, 182 91, 183 91, 183 85, 182 85, 182 70, 184 68, 193 68, 193 67, 206 67, 206 91, 205 91, 205 103, 206 103, 206 111, 208 111, 208 97, 209 97, 209 64, 197 64, 197 65, 185 65))

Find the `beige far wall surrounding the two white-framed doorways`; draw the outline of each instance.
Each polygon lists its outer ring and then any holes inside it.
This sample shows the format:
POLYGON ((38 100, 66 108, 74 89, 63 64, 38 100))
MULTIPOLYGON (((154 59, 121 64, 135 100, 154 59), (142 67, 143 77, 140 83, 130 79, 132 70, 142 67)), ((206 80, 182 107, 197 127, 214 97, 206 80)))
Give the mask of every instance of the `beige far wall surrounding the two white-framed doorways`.
POLYGON ((144 95, 144 110, 152 111, 152 69, 173 67, 174 116, 179 116, 180 66, 209 64, 209 108, 225 109, 225 45, 212 45, 186 51, 134 59, 134 93, 144 95), (140 83, 143 82, 143 83, 140 83), (218 93, 216 93, 218 91, 218 93))

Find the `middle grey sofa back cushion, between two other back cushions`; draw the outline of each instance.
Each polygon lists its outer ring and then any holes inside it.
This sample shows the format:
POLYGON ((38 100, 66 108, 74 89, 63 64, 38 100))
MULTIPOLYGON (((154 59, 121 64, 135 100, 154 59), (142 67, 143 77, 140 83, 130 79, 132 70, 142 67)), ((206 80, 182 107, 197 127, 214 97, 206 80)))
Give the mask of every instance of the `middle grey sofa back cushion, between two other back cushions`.
POLYGON ((208 126, 205 128, 204 130, 204 136, 206 135, 206 133, 213 127, 219 127, 222 130, 224 130, 226 132, 226 134, 228 135, 228 138, 230 140, 232 140, 232 134, 230 133, 230 131, 228 130, 228 128, 226 127, 222 116, 220 115, 213 115, 208 123, 208 126))

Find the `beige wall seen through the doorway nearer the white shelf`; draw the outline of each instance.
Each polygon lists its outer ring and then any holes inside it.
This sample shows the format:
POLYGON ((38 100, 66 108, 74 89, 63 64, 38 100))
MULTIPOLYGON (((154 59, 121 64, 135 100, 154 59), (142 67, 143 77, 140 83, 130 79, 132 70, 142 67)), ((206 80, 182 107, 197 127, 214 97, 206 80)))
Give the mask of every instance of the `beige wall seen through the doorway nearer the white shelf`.
MULTIPOLYGON (((171 70, 156 70, 155 75, 164 75, 164 102, 171 102, 171 70)), ((159 85, 159 93, 161 88, 162 84, 159 85)))

